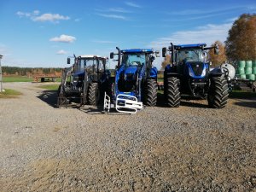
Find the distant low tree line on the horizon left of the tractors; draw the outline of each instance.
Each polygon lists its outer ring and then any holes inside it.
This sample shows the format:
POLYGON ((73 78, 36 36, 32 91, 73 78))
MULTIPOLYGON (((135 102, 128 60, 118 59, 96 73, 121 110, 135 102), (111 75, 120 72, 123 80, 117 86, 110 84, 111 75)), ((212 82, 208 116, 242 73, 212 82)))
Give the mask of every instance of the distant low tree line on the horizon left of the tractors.
POLYGON ((32 76, 38 74, 55 74, 58 75, 62 68, 44 68, 44 67, 2 67, 3 75, 19 75, 19 76, 32 76))

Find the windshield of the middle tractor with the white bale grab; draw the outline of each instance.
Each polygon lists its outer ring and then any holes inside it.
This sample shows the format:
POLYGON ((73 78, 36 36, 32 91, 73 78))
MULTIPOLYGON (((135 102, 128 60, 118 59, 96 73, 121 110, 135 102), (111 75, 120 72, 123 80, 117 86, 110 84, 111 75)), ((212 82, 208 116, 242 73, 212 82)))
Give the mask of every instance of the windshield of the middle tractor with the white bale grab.
POLYGON ((123 55, 122 63, 125 64, 125 67, 140 67, 146 61, 146 55, 143 53, 132 54, 127 53, 123 55))

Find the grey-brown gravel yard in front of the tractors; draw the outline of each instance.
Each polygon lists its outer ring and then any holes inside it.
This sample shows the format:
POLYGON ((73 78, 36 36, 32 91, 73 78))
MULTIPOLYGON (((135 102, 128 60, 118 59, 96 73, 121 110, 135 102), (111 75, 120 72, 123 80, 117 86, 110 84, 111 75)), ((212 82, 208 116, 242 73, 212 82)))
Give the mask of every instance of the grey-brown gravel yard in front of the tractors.
POLYGON ((23 95, 0 99, 1 191, 256 191, 256 98, 130 115, 3 85, 23 95))

